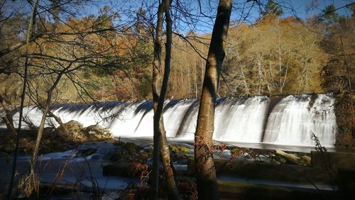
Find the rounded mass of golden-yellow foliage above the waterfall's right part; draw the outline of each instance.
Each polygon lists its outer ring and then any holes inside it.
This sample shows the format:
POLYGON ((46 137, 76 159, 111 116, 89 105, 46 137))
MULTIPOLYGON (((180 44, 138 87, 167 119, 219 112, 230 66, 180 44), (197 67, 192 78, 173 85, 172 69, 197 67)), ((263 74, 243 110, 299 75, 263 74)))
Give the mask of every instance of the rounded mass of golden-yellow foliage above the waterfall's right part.
POLYGON ((232 29, 226 76, 240 80, 229 82, 248 86, 252 94, 321 91, 319 73, 327 55, 320 53, 320 36, 307 26, 294 17, 265 16, 253 26, 232 29))

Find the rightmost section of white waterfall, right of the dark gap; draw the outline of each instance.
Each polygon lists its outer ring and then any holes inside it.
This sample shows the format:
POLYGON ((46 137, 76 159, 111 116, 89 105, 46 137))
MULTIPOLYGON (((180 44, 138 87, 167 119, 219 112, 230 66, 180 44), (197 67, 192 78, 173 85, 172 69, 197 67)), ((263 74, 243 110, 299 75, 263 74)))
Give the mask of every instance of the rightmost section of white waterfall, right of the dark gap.
POLYGON ((322 145, 334 145, 337 125, 333 104, 334 99, 324 94, 281 99, 268 116, 263 142, 314 146, 311 135, 315 133, 322 145))

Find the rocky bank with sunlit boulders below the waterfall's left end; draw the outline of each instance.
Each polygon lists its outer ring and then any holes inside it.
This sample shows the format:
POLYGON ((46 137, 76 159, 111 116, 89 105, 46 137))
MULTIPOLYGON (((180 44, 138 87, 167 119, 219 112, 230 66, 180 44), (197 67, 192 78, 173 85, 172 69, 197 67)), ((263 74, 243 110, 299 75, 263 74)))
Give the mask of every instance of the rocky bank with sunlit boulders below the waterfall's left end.
MULTIPOLYGON (((43 138, 40 143, 40 154, 48 152, 63 152, 75 148, 75 146, 87 141, 114 140, 114 135, 99 125, 84 127, 77 121, 65 123, 69 133, 64 133, 60 128, 46 127, 43 130, 43 138)), ((0 152, 8 155, 15 150, 16 134, 9 130, 0 130, 0 152)), ((21 154, 31 154, 35 145, 36 129, 21 130, 19 150, 21 154)))

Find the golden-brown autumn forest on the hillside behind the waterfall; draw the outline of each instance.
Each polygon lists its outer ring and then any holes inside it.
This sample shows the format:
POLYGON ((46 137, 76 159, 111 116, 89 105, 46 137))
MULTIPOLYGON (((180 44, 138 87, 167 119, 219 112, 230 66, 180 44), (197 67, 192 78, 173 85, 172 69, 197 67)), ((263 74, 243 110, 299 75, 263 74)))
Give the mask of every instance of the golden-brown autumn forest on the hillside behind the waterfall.
MULTIPOLYGON (((353 12, 354 6, 348 7, 349 13, 353 12)), ((326 9, 336 8, 330 5, 326 9)), ((3 10, 1 96, 16 104, 21 94, 28 16, 3 10)), ((340 16, 328 10, 301 19, 283 17, 282 12, 272 13, 271 9, 252 24, 231 21, 219 96, 320 93, 344 88, 343 78, 347 77, 342 55, 351 65, 354 14, 340 16), (334 77, 339 77, 339 82, 334 77), (331 82, 340 85, 331 86, 331 82)), ((55 12, 60 15, 59 9, 55 12)), ((55 15, 52 11, 41 13, 28 47, 31 76, 27 96, 32 100, 26 104, 43 101, 55 74, 65 68, 53 92, 56 103, 151 99, 154 13, 143 7, 131 12, 130 21, 119 19, 119 13, 109 6, 103 6, 97 16, 55 18, 48 16, 55 15)), ((175 26, 167 95, 197 98, 211 33, 180 33, 179 25, 175 26)))

